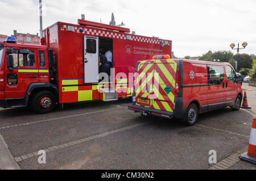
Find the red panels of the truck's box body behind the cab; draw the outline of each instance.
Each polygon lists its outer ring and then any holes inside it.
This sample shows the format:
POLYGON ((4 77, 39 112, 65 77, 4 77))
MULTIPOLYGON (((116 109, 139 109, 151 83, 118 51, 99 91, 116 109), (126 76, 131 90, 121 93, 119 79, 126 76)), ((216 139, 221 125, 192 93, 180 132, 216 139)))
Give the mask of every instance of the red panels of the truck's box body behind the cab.
MULTIPOLYGON (((59 90, 63 89, 62 80, 77 79, 80 89, 90 90, 92 86, 86 86, 84 81, 84 36, 95 37, 108 37, 113 40, 113 68, 115 68, 114 76, 118 73, 125 73, 128 78, 128 85, 133 84, 133 77, 129 77, 129 73, 134 73, 135 65, 138 60, 147 60, 152 58, 155 54, 171 54, 170 40, 154 39, 152 37, 131 35, 127 28, 117 28, 116 30, 108 30, 104 28, 113 28, 101 23, 89 22, 90 26, 83 26, 82 24, 88 24, 87 21, 79 20, 81 25, 69 24, 63 22, 57 22, 51 27, 44 30, 44 42, 48 48, 53 49, 56 60, 57 70, 57 82, 56 85, 59 90), (75 32, 67 31, 67 27, 75 27, 75 32), (91 27, 97 26, 97 27, 91 27), (104 27, 104 28, 99 28, 104 27), (79 32, 80 28, 84 32, 79 32), (127 40, 126 37, 131 36, 131 40, 127 40), (162 41, 167 41, 167 45, 163 48, 162 41), (134 49, 137 48, 137 49, 134 49), (148 54, 138 54, 145 52, 148 54)), ((116 80, 112 80, 113 83, 117 83, 116 80)), ((77 102, 77 91, 71 92, 59 92, 59 102, 77 102)), ((118 97, 131 96, 132 92, 128 95, 127 92, 118 92, 118 97)), ((101 99, 97 90, 93 90, 92 100, 101 99)))

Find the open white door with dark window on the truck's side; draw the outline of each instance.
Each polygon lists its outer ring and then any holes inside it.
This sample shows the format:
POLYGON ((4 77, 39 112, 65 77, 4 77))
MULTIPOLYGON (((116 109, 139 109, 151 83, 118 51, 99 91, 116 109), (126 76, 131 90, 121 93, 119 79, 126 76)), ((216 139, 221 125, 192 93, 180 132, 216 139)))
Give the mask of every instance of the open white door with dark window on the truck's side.
POLYGON ((84 83, 98 82, 98 37, 84 36, 84 83))

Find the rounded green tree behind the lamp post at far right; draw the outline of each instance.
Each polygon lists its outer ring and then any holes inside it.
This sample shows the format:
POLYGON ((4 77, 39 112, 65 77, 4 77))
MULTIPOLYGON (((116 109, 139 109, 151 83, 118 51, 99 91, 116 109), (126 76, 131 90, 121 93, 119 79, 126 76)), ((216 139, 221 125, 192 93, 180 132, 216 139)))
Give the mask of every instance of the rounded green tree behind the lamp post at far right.
MULTIPOLYGON (((229 64, 236 68, 237 54, 233 56, 233 59, 229 61, 229 64)), ((253 64, 253 58, 246 53, 239 54, 238 71, 241 69, 251 69, 253 64)))

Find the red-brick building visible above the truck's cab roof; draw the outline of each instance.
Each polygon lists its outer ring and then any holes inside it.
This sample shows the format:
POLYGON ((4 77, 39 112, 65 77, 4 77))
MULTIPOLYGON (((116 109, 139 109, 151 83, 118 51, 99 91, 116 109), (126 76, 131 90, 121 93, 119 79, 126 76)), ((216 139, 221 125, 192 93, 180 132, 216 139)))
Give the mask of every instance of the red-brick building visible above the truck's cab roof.
POLYGON ((17 33, 16 30, 13 31, 14 35, 11 35, 16 38, 18 44, 32 44, 32 45, 40 45, 40 37, 38 33, 36 35, 32 35, 30 33, 17 33))

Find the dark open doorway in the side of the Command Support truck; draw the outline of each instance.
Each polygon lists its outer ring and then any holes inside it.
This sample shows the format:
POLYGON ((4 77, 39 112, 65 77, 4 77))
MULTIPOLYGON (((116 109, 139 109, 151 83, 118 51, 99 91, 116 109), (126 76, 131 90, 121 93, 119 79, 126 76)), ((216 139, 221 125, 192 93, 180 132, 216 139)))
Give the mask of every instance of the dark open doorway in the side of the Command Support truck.
MULTIPOLYGON (((113 68, 113 39, 100 37, 99 38, 99 57, 100 57, 100 73, 106 73, 110 77, 110 69, 113 68), (112 52, 112 62, 108 61, 108 56, 106 57, 106 52, 112 52)), ((101 80, 100 80, 101 81, 101 80)))

